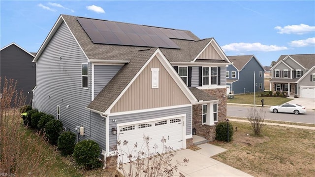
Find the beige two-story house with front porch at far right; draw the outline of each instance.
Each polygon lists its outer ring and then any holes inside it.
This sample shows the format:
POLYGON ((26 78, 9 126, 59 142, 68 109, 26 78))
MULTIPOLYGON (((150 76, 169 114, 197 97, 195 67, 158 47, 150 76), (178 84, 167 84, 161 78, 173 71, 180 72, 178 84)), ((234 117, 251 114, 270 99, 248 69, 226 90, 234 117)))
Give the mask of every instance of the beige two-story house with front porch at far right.
POLYGON ((288 95, 315 98, 315 54, 281 55, 272 67, 270 88, 288 95))

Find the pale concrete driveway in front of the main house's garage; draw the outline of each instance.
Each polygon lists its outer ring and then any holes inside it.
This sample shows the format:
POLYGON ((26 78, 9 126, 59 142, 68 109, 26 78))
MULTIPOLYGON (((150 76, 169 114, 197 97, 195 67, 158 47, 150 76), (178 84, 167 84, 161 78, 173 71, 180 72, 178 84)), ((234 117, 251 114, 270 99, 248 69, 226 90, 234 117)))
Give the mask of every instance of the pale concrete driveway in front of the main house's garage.
POLYGON ((179 166, 175 177, 182 173, 185 177, 252 177, 251 175, 223 164, 211 156, 224 152, 226 149, 209 143, 197 145, 201 149, 183 149, 177 151, 173 160, 189 159, 187 166, 179 166))

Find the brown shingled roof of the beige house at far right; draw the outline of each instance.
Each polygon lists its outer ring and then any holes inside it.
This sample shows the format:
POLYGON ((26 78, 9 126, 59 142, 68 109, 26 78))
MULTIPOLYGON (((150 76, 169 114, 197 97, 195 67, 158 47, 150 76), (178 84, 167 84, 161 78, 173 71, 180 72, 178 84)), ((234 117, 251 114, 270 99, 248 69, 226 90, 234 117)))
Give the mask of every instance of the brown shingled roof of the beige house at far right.
POLYGON ((310 69, 315 66, 315 54, 281 55, 277 60, 277 64, 281 60, 284 60, 286 56, 290 56, 306 69, 310 69))

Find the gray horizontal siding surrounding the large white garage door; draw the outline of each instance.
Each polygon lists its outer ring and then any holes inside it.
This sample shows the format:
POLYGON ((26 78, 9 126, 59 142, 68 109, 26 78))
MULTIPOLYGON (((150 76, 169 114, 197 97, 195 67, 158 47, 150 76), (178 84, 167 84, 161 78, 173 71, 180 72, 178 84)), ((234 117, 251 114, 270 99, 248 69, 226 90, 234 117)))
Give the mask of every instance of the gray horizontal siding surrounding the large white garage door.
MULTIPOLYGON (((161 109, 156 111, 148 111, 148 112, 140 112, 140 113, 132 113, 132 114, 124 114, 124 115, 115 115, 109 116, 110 120, 115 119, 116 122, 109 121, 109 130, 112 128, 116 128, 116 124, 126 123, 141 120, 149 120, 154 118, 168 117, 172 115, 186 114, 185 126, 186 126, 186 135, 191 135, 191 106, 171 108, 171 109, 161 109)), ((161 137, 162 138, 162 137, 161 137)), ((185 138, 185 137, 184 137, 185 138)), ((126 140, 128 141, 128 140, 126 140)), ((183 140, 184 141, 184 140, 183 140)), ((113 146, 117 144, 117 135, 109 134, 109 146, 113 146)))

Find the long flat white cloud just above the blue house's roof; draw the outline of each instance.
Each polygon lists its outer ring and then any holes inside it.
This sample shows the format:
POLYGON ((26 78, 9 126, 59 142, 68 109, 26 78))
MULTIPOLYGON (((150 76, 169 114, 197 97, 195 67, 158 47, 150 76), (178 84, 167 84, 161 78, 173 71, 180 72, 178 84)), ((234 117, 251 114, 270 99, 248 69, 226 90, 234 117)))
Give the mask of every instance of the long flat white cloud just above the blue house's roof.
POLYGON ((270 51, 279 51, 279 50, 287 50, 288 48, 285 46, 277 46, 277 45, 263 45, 259 42, 255 43, 230 43, 221 47, 224 52, 227 51, 263 51, 263 52, 270 52, 270 51))

